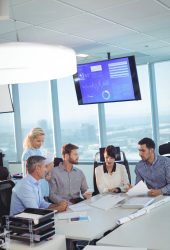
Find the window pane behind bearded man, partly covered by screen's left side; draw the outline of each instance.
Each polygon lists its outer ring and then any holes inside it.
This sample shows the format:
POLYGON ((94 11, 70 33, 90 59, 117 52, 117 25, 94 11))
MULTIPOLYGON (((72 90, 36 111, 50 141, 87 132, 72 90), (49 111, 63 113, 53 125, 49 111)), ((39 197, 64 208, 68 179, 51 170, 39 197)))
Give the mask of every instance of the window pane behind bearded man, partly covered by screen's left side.
POLYGON ((97 105, 78 105, 72 77, 57 82, 62 144, 79 147, 80 160, 93 160, 99 149, 97 105))

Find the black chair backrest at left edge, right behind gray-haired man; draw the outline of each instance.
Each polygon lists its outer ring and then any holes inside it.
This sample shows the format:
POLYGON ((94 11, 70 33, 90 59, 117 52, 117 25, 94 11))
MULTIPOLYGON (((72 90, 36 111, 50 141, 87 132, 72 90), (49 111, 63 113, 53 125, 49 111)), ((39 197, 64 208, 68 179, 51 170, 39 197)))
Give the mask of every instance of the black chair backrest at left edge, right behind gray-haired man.
POLYGON ((11 180, 0 181, 0 218, 3 215, 9 215, 12 188, 15 183, 11 180))

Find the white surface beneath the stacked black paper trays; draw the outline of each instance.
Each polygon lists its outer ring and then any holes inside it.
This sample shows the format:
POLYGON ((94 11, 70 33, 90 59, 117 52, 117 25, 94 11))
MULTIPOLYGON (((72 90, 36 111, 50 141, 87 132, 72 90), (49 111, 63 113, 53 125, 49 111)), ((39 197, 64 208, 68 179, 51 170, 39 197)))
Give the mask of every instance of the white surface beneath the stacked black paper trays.
MULTIPOLYGON (((64 235, 55 235, 51 240, 44 240, 35 243, 32 247, 35 250, 66 250, 66 240, 64 235)), ((10 240, 9 250, 29 250, 30 245, 22 241, 10 240)))

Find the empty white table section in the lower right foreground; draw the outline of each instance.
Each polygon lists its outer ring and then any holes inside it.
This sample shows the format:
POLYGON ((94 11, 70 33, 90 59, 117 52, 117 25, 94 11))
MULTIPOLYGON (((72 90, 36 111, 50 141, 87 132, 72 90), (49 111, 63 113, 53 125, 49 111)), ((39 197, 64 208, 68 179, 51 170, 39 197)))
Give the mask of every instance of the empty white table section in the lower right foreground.
POLYGON ((170 202, 123 224, 97 242, 99 246, 170 249, 170 202))

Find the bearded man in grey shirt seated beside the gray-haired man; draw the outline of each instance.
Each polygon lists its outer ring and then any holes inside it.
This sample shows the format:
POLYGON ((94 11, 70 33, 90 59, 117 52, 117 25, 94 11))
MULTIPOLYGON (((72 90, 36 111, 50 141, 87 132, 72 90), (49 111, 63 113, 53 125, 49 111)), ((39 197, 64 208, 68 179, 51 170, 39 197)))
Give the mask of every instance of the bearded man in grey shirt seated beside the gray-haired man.
POLYGON ((91 197, 84 173, 74 165, 78 164, 78 147, 71 143, 65 144, 61 150, 63 162, 52 170, 50 200, 58 203, 62 200, 75 204, 91 197))

